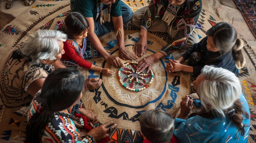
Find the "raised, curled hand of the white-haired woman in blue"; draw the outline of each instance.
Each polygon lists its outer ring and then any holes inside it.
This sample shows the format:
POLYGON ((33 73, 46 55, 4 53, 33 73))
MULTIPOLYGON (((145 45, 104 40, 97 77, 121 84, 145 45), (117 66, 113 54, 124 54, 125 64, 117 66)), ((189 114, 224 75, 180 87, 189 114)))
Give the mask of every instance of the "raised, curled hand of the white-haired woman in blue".
POLYGON ((192 108, 193 108, 193 98, 190 95, 187 95, 180 102, 180 115, 178 116, 178 118, 187 119, 192 108))

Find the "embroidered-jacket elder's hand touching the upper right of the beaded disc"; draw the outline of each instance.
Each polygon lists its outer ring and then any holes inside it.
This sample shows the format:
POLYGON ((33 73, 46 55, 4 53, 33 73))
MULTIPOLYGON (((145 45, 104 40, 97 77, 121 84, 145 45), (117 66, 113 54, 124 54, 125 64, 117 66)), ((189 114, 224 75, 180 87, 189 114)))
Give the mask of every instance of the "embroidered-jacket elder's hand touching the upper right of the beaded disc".
POLYGON ((156 62, 156 58, 155 58, 154 55, 150 55, 148 57, 144 57, 143 59, 141 59, 139 61, 138 65, 136 66, 136 71, 142 72, 143 70, 148 68, 146 73, 149 73, 150 68, 153 66, 153 64, 155 62, 156 62))

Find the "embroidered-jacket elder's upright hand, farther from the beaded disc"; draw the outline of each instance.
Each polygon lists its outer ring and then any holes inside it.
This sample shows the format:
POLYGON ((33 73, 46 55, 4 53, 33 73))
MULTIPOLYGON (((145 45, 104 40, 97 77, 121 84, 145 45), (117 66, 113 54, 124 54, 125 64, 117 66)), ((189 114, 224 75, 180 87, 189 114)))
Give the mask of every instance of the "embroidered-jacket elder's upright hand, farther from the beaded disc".
POLYGON ((146 53, 148 48, 147 39, 144 37, 139 37, 138 42, 132 47, 132 50, 135 52, 135 55, 142 56, 146 53))

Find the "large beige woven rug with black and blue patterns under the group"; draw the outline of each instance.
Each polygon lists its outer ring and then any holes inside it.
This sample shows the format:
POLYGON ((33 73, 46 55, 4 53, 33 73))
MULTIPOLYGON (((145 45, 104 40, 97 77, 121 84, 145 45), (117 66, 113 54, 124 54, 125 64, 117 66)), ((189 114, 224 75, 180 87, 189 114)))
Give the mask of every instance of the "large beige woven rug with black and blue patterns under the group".
MULTIPOLYGON (((124 0, 133 11, 148 5, 148 1, 124 0)), ((218 16, 213 14, 213 9, 203 6, 199 22, 201 29, 196 29, 200 38, 205 36, 205 32, 217 22, 221 22, 218 16)), ((63 20, 70 12, 69 1, 40 1, 29 7, 19 17, 4 26, 0 31, 0 61, 6 53, 16 44, 21 42, 29 33, 38 29, 57 29, 56 22, 63 20)), ((126 29, 132 29, 127 25, 126 29)), ((126 47, 132 52, 132 45, 139 38, 138 30, 125 31, 126 47)), ((115 32, 108 33, 100 37, 103 46, 112 55, 118 55, 115 32)), ((148 50, 146 55, 158 51, 169 40, 164 33, 148 34, 148 50)), ((246 42, 246 41, 245 41, 246 42)), ((94 71, 79 68, 86 78, 99 77, 103 79, 103 84, 96 90, 88 90, 83 93, 82 101, 87 108, 98 114, 94 124, 100 125, 106 121, 114 121, 117 128, 111 134, 112 143, 141 143, 141 132, 139 129, 138 117, 145 110, 162 108, 173 117, 180 108, 181 98, 194 91, 191 81, 195 77, 191 74, 177 72, 166 73, 164 68, 168 59, 177 59, 184 51, 175 51, 167 57, 163 57, 156 62, 153 67, 154 79, 151 86, 142 91, 131 91, 121 85, 118 79, 118 70, 106 63, 103 58, 89 60, 97 66, 110 68, 115 71, 115 75, 106 77, 94 71)), ((239 73, 239 79, 243 85, 243 93, 247 98, 251 110, 251 125, 249 133, 249 143, 256 142, 256 56, 248 44, 245 44, 243 54, 246 57, 246 66, 239 73)), ((141 59, 142 57, 140 57, 141 59)), ((123 61, 129 62, 129 61, 123 61)), ((25 139, 25 126, 27 118, 20 116, 5 108, 0 101, 0 143, 22 143, 25 139)))

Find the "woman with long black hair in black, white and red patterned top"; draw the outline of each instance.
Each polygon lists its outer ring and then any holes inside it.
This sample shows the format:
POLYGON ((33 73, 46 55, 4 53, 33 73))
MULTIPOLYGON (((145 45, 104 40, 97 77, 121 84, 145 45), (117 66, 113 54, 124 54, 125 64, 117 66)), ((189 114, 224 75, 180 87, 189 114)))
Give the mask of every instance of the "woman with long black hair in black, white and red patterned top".
POLYGON ((112 121, 97 128, 90 126, 92 129, 81 136, 74 121, 82 120, 67 111, 81 99, 84 82, 84 76, 74 68, 59 68, 48 75, 30 105, 25 143, 94 143, 109 137, 110 128, 116 127, 112 121))

